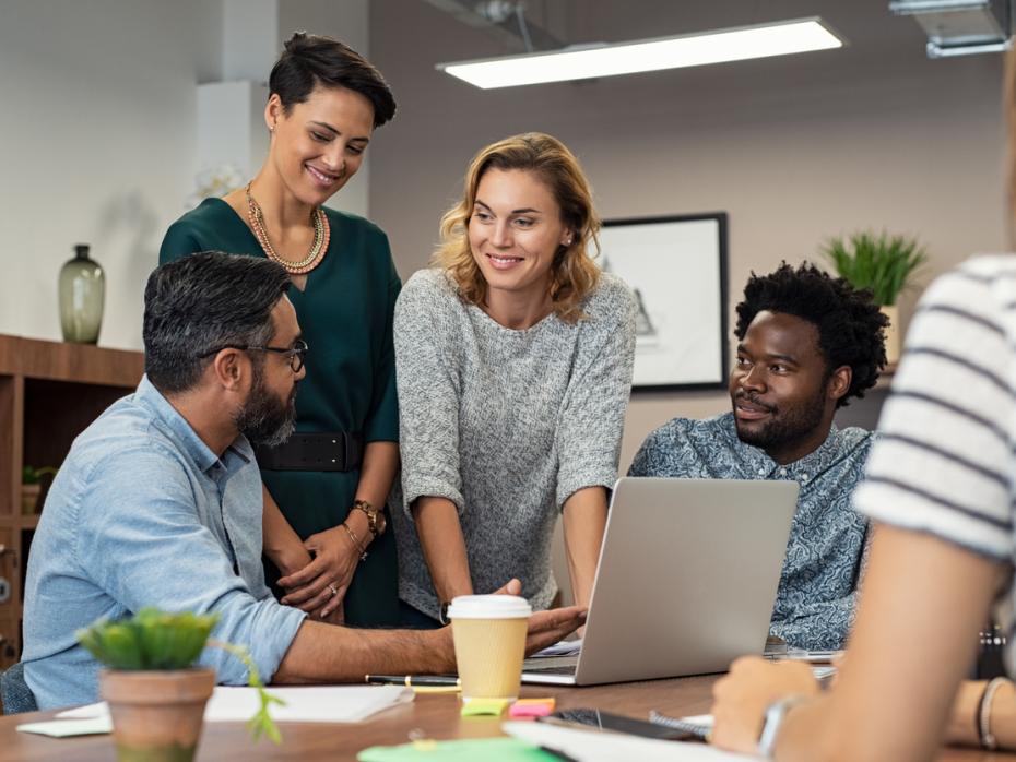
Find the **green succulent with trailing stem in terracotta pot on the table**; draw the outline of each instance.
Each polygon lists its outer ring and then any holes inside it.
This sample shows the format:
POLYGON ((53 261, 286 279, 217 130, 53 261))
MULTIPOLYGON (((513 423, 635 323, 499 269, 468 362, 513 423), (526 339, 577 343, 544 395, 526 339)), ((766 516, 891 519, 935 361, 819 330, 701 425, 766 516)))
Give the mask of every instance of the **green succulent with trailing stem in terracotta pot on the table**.
POLYGON ((279 728, 268 707, 282 703, 268 694, 243 646, 209 641, 217 615, 167 614, 144 608, 132 618, 99 620, 78 631, 78 641, 106 666, 99 692, 109 705, 120 762, 188 762, 193 759, 204 722, 204 705, 215 688, 215 671, 194 662, 205 645, 223 648, 247 666, 250 684, 261 696, 248 723, 255 739, 264 734, 276 743, 279 728))

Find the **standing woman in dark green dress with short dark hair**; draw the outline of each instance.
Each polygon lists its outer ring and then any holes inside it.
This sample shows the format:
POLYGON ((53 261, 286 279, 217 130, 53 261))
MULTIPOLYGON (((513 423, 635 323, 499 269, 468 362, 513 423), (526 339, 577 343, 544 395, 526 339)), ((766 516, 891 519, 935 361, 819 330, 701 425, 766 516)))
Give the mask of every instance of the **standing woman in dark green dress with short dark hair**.
POLYGON ((263 166, 166 233, 160 261, 217 249, 290 273, 307 377, 297 431, 258 450, 265 572, 282 602, 357 626, 399 621, 385 502, 398 469, 391 321, 400 282, 375 225, 324 209, 395 112, 381 74, 346 45, 294 34, 272 69, 263 166))

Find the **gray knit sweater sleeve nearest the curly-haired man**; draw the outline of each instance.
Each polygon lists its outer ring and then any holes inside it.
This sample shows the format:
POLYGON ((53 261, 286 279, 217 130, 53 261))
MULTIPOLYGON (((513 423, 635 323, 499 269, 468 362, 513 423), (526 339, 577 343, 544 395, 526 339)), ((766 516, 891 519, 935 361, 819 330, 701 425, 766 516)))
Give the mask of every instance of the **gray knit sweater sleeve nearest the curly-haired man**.
POLYGON ((589 341, 579 353, 557 427, 558 509, 579 489, 611 489, 617 480, 635 364, 636 305, 619 281, 601 288, 606 291, 603 314, 594 313, 580 325, 589 341))

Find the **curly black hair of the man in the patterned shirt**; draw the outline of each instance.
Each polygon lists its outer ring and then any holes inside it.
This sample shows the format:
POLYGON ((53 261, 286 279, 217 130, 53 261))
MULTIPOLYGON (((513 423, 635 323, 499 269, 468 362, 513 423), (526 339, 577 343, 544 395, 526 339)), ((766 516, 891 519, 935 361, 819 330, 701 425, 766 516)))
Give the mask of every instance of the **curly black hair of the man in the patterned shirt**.
POLYGON ((748 325, 764 310, 813 323, 828 374, 850 366, 850 389, 837 401, 837 407, 846 407, 850 397, 863 397, 875 385, 886 364, 885 328, 889 319, 872 301, 870 290, 854 288, 846 278, 832 277, 807 262, 796 270, 783 262, 769 275, 752 272, 744 301, 737 305, 734 334, 739 341, 744 340, 748 325))

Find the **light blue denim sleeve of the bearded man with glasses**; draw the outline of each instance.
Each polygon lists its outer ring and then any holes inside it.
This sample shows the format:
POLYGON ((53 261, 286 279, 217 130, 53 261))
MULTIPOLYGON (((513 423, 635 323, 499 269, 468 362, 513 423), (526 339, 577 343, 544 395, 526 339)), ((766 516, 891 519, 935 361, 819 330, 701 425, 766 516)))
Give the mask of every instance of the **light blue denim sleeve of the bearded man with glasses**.
MULTIPOLYGON (((126 611, 214 611, 213 635, 247 646, 260 672, 271 675, 305 615, 251 595, 226 548, 201 523, 178 457, 147 442, 107 454, 83 488, 69 552, 126 611)), ((246 513, 232 519, 244 526, 258 520, 260 507, 238 510, 246 513)), ((206 648, 200 660, 215 668, 221 683, 247 682, 243 663, 217 648, 206 648)))

